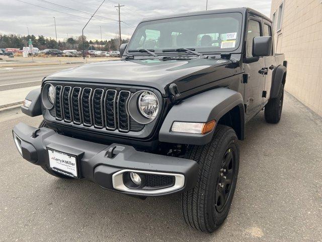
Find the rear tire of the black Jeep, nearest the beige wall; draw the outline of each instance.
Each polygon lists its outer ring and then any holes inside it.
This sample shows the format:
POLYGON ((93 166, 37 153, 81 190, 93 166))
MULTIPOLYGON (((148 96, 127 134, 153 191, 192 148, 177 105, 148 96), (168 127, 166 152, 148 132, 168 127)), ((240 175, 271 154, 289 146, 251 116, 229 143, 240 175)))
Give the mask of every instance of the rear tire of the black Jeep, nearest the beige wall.
POLYGON ((284 100, 284 85, 281 84, 277 98, 270 99, 265 106, 265 120, 270 124, 277 124, 281 120, 284 100))

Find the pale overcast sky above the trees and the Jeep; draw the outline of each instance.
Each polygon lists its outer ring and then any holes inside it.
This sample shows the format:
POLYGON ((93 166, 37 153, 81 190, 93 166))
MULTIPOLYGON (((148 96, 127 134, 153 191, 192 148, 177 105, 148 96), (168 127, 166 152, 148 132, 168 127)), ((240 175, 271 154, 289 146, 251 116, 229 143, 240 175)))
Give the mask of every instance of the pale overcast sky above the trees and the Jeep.
MULTIPOLYGON (((56 19, 57 38, 77 37, 90 15, 103 0, 0 0, 0 33, 29 33, 55 38, 54 19, 56 19), (60 6, 57 6, 60 5, 60 6), (62 7, 61 7, 62 6, 62 7), (63 8, 65 7, 65 8, 63 8), (75 11, 76 10, 76 11, 75 11), (81 11, 81 12, 78 12, 81 11)), ((118 33, 118 12, 114 6, 120 3, 122 38, 129 37, 138 22, 147 17, 175 13, 202 11, 206 0, 106 0, 97 16, 85 28, 88 39, 110 39, 118 33)), ((237 7, 250 7, 270 16, 271 0, 208 0, 208 10, 237 7)))

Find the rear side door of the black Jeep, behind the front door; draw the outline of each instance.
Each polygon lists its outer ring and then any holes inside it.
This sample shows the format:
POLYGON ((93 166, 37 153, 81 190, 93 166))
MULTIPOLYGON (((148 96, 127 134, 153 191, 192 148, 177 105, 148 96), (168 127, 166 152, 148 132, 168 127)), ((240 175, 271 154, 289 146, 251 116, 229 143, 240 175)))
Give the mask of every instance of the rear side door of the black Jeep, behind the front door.
MULTIPOLYGON (((272 24, 266 20, 263 21, 263 33, 264 36, 272 36, 272 24)), ((274 43, 274 41, 273 41, 274 43)), ((265 105, 269 98, 271 93, 271 86, 272 86, 272 73, 274 70, 274 44, 272 48, 272 53, 270 56, 265 56, 265 68, 267 69, 267 75, 265 75, 265 87, 264 87, 264 94, 263 95, 263 105, 265 105)))

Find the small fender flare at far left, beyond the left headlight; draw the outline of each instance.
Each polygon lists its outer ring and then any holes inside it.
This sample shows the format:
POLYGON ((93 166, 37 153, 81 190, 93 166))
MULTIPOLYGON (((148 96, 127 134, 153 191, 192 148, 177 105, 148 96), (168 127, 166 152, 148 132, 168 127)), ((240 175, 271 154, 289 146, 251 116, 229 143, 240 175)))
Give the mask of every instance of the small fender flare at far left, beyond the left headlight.
POLYGON ((30 91, 26 99, 31 101, 30 107, 23 105, 21 106, 21 111, 31 117, 41 115, 41 88, 30 91))

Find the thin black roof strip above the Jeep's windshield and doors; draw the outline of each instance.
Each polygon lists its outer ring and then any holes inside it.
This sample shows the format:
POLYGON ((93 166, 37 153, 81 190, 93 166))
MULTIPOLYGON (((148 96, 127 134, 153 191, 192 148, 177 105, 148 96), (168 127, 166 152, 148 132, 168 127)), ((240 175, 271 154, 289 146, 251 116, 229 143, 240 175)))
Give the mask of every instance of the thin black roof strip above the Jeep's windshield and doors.
POLYGON ((199 11, 199 12, 189 12, 189 13, 183 13, 183 14, 173 14, 173 15, 165 15, 165 16, 159 16, 159 17, 153 17, 153 18, 146 18, 143 19, 141 22, 151 21, 151 20, 160 20, 160 19, 170 19, 170 18, 178 18, 178 17, 187 17, 187 16, 195 16, 195 15, 205 15, 205 14, 220 14, 220 13, 233 13, 233 12, 239 12, 242 14, 245 14, 246 12, 249 12, 251 14, 255 14, 259 17, 262 17, 270 22, 272 20, 267 17, 264 14, 261 14, 260 12, 251 9, 251 8, 234 8, 234 9, 218 9, 218 10, 207 10, 207 11, 199 11))

